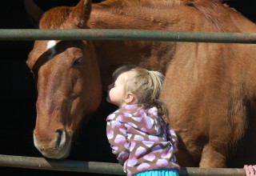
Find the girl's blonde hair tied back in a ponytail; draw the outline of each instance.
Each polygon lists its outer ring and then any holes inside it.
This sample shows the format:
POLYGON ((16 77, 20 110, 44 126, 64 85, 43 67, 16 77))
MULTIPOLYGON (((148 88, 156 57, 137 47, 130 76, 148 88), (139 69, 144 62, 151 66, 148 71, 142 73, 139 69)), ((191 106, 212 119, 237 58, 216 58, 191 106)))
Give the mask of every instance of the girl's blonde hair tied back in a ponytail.
MULTIPOLYGON (((162 82, 164 76, 159 71, 146 70, 140 66, 126 66, 120 67, 121 71, 134 71, 134 75, 126 79, 124 85, 124 93, 131 92, 135 94, 136 104, 153 105, 158 108, 158 113, 162 116, 163 120, 169 122, 169 110, 164 102, 159 100, 162 91, 162 82), (126 69, 124 69, 126 68, 126 69)), ((120 68, 118 70, 120 70, 120 68)), ((114 73, 118 73, 115 71, 114 73)), ((121 73, 121 74, 122 74, 121 73)), ((118 73, 118 75, 120 72, 118 73)), ((118 75, 113 74, 114 77, 118 75)))

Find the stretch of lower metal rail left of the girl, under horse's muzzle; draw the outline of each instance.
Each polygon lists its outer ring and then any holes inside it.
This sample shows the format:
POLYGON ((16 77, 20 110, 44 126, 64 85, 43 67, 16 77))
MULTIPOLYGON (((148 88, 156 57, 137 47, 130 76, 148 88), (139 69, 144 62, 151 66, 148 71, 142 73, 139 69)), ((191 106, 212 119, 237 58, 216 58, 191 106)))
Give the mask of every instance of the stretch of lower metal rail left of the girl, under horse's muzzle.
POLYGON ((98 174, 126 175, 122 171, 122 166, 115 163, 53 160, 48 158, 11 156, 3 154, 0 154, 0 166, 36 170, 57 170, 98 174))

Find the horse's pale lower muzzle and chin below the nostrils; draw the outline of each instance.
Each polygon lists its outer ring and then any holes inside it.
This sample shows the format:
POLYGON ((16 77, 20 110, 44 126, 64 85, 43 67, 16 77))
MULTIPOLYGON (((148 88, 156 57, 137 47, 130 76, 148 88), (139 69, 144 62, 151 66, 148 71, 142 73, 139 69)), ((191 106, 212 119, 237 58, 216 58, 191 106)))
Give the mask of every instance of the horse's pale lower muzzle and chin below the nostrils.
POLYGON ((38 141, 34 135, 34 146, 46 158, 64 159, 64 158, 67 158, 70 154, 72 136, 73 136, 73 133, 68 134, 67 138, 65 135, 65 141, 63 141, 59 147, 56 147, 56 146, 38 144, 38 141), (40 146, 48 146, 48 147, 40 147, 40 146))

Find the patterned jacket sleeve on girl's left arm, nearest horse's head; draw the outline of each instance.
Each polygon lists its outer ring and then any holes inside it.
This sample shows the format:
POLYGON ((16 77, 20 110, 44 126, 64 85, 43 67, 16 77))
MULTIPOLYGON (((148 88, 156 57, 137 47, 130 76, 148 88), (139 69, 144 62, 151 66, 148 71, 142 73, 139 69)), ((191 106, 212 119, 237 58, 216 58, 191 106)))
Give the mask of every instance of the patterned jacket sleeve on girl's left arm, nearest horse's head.
POLYGON ((125 124, 116 120, 107 120, 106 134, 112 148, 112 153, 117 156, 118 162, 123 165, 130 155, 125 124))

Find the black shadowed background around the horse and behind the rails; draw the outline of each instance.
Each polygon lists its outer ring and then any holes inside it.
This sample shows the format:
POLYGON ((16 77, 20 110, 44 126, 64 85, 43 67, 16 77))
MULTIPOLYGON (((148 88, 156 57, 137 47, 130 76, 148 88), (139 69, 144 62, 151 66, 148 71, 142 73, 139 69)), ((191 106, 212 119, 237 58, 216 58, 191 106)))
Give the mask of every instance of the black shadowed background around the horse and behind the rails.
MULTIPOLYGON (((36 0, 42 10, 53 6, 74 6, 78 0, 36 0)), ((94 2, 100 2, 94 1, 94 2)), ((255 0, 230 0, 230 6, 256 22, 255 0)), ((22 0, 0 1, 0 29, 32 29, 34 26, 26 16, 22 0)), ((36 90, 32 74, 26 66, 26 58, 33 42, 0 41, 0 154, 42 157, 33 143, 33 130, 36 117, 36 90)), ((105 104, 105 103, 104 103, 105 104)), ((90 126, 83 125, 75 139, 68 159, 96 162, 116 162, 106 141, 106 115, 114 106, 102 106, 90 126)), ((96 175, 47 170, 26 170, 0 167, 0 175, 96 175)))

